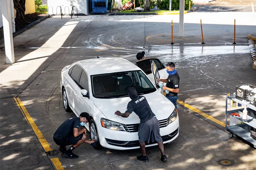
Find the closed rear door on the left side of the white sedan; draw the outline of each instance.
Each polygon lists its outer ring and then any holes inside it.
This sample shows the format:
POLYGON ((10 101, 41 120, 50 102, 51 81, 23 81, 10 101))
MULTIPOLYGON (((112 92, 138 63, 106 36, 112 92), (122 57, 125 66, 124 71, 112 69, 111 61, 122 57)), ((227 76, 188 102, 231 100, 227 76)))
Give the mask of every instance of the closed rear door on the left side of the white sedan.
POLYGON ((78 81, 80 78, 82 72, 82 68, 79 65, 75 65, 70 73, 69 78, 67 78, 67 82, 65 82, 66 89, 67 89, 67 97, 68 97, 68 103, 69 105, 73 108, 73 111, 75 112, 75 114, 77 113, 76 110, 76 102, 77 102, 77 88, 78 87, 78 81))

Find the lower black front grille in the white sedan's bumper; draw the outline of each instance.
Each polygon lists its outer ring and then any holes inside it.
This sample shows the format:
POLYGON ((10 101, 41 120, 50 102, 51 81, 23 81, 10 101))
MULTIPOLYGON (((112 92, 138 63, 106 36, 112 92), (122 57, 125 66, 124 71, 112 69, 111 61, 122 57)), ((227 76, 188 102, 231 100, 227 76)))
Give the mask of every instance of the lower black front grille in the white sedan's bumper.
MULTIPOLYGON (((175 137, 179 132, 179 128, 176 129, 174 132, 170 133, 169 135, 164 135, 161 136, 163 139, 163 142, 171 140, 173 137, 175 137)), ((137 147, 140 146, 139 144, 139 140, 134 140, 134 141, 120 141, 120 140, 112 140, 112 139, 107 139, 105 138, 107 143, 110 145, 114 145, 114 146, 119 146, 119 147, 125 147, 125 148, 132 148, 132 147, 137 147)), ((146 142, 146 145, 149 144, 155 144, 156 142, 153 142, 150 140, 149 143, 146 142)))

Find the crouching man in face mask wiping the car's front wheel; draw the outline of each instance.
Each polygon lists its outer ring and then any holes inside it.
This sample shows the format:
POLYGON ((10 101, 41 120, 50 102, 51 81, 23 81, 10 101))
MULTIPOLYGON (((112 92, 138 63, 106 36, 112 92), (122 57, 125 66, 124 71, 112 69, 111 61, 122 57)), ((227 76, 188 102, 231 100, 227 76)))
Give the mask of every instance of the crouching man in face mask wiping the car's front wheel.
POLYGON ((95 140, 86 140, 86 129, 78 131, 79 126, 84 126, 90 120, 90 115, 86 112, 80 114, 79 117, 73 117, 66 120, 60 125, 53 135, 54 142, 60 146, 60 152, 71 159, 78 158, 72 151, 76 149, 80 144, 87 143, 92 144, 95 140), (66 150, 67 145, 72 145, 66 150))

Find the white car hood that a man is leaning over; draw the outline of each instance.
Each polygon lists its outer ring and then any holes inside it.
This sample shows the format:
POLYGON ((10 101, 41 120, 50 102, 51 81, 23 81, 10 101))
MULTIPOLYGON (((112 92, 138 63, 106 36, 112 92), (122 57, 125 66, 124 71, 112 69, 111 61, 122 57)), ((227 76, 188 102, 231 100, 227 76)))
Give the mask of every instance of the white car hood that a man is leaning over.
MULTIPOLYGON (((143 96, 148 100, 148 104, 158 120, 167 119, 172 114, 174 105, 159 91, 144 94, 143 96)), ((137 116, 134 112, 132 112, 128 118, 115 115, 117 110, 124 113, 129 101, 131 101, 129 97, 113 99, 94 98, 94 105, 100 109, 108 120, 123 124, 140 123, 139 116, 137 116)))

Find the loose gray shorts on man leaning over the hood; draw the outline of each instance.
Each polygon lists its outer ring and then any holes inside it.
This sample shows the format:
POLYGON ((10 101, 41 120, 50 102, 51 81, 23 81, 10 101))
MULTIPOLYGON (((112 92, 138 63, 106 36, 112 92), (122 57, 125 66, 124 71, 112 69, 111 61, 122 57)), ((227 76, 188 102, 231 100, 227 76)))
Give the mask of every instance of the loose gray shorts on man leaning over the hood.
POLYGON ((147 122, 140 123, 139 127, 139 142, 163 142, 163 139, 160 135, 160 127, 159 127, 159 122, 156 119, 156 117, 153 117, 149 119, 147 122))

